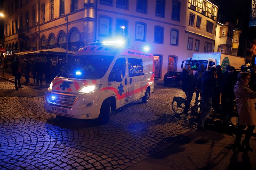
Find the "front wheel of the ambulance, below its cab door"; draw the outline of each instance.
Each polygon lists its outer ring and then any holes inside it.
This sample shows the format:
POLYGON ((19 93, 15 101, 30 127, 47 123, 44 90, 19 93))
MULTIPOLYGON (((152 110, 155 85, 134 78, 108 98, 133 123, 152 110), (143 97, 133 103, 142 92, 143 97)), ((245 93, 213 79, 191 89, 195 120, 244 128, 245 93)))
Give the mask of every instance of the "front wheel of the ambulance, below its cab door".
POLYGON ((110 120, 110 113, 111 113, 111 101, 109 99, 106 99, 103 101, 101 105, 98 122, 100 124, 108 123, 110 120))

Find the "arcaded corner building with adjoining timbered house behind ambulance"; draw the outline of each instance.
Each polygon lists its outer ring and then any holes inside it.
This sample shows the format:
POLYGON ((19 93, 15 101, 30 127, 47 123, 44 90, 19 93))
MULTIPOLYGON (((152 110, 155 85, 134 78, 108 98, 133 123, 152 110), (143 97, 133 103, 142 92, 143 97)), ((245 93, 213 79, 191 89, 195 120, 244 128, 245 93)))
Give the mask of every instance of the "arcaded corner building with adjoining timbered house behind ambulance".
POLYGON ((214 51, 218 6, 209 0, 5 0, 4 9, 10 53, 77 51, 121 36, 131 47, 150 47, 163 79, 194 52, 214 51))

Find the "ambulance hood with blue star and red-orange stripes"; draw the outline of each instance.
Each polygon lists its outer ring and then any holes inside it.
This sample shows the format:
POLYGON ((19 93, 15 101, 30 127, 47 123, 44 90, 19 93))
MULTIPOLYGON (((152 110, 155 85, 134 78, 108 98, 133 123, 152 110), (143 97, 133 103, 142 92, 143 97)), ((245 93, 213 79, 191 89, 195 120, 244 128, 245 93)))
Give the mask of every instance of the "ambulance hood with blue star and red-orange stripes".
POLYGON ((52 90, 55 92, 77 93, 81 88, 90 85, 98 85, 100 79, 97 80, 76 80, 55 77, 53 80, 52 90))

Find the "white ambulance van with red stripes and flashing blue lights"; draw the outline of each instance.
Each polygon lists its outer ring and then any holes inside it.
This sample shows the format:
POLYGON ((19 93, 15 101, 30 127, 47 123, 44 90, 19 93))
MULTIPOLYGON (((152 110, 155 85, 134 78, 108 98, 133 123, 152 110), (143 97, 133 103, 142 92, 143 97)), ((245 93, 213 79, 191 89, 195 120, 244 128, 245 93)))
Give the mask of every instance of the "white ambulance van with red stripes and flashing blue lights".
POLYGON ((152 53, 122 45, 100 44, 81 48, 61 69, 48 88, 48 113, 77 119, 110 119, 111 111, 154 90, 152 53))

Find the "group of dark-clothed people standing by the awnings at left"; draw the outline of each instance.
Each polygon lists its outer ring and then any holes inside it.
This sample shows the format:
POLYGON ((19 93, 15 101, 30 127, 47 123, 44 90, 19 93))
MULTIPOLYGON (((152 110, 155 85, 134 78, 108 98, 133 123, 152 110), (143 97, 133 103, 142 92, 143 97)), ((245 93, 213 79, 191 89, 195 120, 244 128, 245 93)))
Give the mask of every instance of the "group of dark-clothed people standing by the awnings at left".
MULTIPOLYGON (((43 79, 46 84, 50 83, 58 74, 64 63, 59 59, 56 64, 55 60, 47 60, 38 58, 37 60, 28 62, 28 60, 21 60, 19 57, 12 63, 12 75, 15 77, 15 89, 23 88, 20 85, 20 78, 22 74, 25 77, 25 83, 30 83, 30 72, 33 75, 33 83, 40 86, 43 85, 43 79)), ((31 82, 32 83, 32 82, 31 82)))

